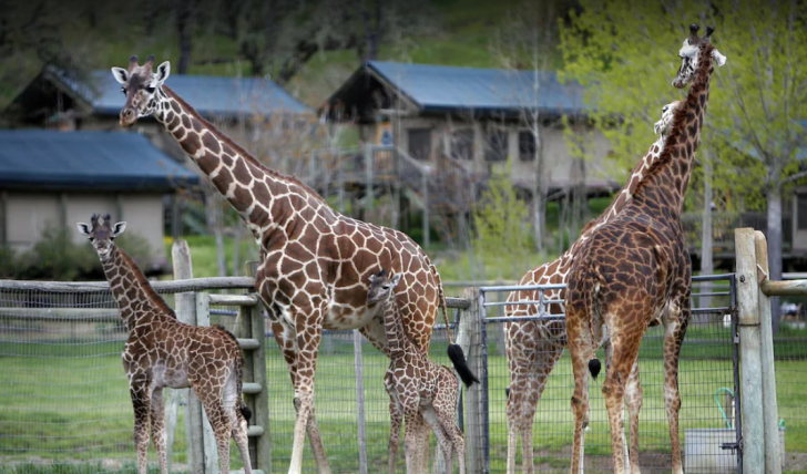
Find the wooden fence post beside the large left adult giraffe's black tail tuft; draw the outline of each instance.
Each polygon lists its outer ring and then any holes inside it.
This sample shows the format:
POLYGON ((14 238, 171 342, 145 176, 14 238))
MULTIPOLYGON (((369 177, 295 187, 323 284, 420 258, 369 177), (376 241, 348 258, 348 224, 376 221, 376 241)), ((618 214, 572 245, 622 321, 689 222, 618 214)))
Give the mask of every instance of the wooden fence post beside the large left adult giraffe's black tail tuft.
MULTIPOLYGON (((479 289, 466 288, 462 298, 471 302, 470 308, 463 311, 457 331, 457 343, 462 348, 468 359, 468 367, 478 377, 483 370, 481 324, 479 307, 479 289)), ((484 410, 482 405, 482 385, 477 383, 464 389, 464 429, 466 429, 466 464, 469 473, 482 473, 484 470, 484 410)))

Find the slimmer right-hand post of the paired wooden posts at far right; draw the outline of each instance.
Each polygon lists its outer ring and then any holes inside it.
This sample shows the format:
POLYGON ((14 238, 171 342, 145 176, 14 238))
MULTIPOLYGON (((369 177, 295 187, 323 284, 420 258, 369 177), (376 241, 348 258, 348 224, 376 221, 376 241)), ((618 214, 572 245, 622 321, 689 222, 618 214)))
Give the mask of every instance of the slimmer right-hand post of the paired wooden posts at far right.
MULTIPOLYGON (((768 246, 765 234, 754 233, 757 280, 762 285, 768 277, 768 246)), ((779 414, 776 402, 776 368, 774 363, 774 330, 770 319, 770 298, 757 287, 759 303, 759 336, 763 389, 763 415, 765 420, 765 474, 780 474, 779 414)))

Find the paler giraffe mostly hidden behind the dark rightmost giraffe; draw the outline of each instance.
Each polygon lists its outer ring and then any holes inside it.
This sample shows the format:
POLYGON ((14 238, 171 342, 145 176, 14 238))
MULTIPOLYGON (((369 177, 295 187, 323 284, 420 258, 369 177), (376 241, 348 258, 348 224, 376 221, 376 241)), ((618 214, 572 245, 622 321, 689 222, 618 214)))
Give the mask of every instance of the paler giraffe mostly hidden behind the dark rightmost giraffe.
MULTIPOLYGON (((651 145, 631 173, 627 183, 616 194, 614 200, 595 219, 586 224, 582 234, 572 246, 556 260, 545 262, 524 274, 519 286, 535 285, 565 285, 569 268, 578 255, 581 244, 591 237, 592 231, 610 219, 613 219, 625 207, 641 183, 650 166, 658 158, 664 150, 664 140, 673 121, 673 113, 678 102, 662 107, 662 117, 655 123, 653 130, 660 135, 651 145)), ((544 290, 549 300, 563 300, 565 289, 544 290)), ((509 302, 538 301, 538 290, 513 291, 508 296, 509 302)), ((562 303, 548 305, 548 313, 563 315, 562 303)), ((537 316, 540 308, 537 305, 513 305, 504 307, 507 317, 537 316)), ((504 344, 510 370, 510 387, 508 391, 508 474, 515 473, 515 450, 518 439, 521 437, 521 464, 524 474, 534 472, 532 460, 532 423, 535 409, 546 385, 549 374, 560 360, 566 347, 566 330, 563 320, 513 321, 504 324, 504 344)), ((601 343, 610 354, 611 343, 607 337, 601 343)), ((609 357, 606 357, 606 360, 609 357)), ((639 381, 639 364, 631 371, 627 379, 631 388, 627 396, 627 412, 631 416, 631 450, 639 450, 639 410, 642 406, 642 387, 639 381)), ((586 422, 588 423, 588 422, 586 422)), ((636 467, 637 468, 637 467, 636 467)))

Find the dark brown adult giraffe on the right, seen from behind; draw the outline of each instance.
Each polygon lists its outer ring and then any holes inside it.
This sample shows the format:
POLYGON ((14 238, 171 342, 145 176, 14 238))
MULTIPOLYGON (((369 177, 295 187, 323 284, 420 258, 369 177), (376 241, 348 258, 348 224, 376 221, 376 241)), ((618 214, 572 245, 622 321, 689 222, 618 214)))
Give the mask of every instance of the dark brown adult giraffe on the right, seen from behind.
MULTIPOLYGON (((624 381, 636 361, 645 330, 662 323, 672 471, 683 474, 678 354, 689 322, 692 261, 681 212, 708 102, 709 79, 714 65, 726 61, 709 42, 714 28, 708 27, 703 38, 698 38, 697 30, 697 24, 689 27, 689 38, 678 53, 682 65, 673 85, 682 89, 692 82, 692 86, 675 111, 664 151, 622 213, 582 244, 569 271, 566 337, 574 372, 572 473, 579 468, 583 421, 589 410, 586 370, 594 378, 600 372, 594 349, 603 327, 607 327, 612 351, 602 392, 611 425, 613 468, 623 474, 627 472, 623 452, 624 381)), ((631 457, 639 457, 639 453, 631 457)), ((637 470, 634 465, 634 472, 637 470)))

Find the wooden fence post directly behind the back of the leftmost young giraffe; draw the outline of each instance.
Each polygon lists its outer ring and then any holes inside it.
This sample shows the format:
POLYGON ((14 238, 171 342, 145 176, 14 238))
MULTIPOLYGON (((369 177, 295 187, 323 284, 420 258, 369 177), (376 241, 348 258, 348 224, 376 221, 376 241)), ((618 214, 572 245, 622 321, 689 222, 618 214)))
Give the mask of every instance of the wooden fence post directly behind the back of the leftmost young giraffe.
MULTIPOLYGON (((191 249, 185 240, 174 240, 171 248, 171 257, 174 260, 174 279, 193 278, 193 266, 191 264, 191 249)), ((175 295, 174 306, 176 317, 186 324, 196 324, 196 297, 193 292, 181 292, 175 295)), ((168 435, 168 462, 174 444, 174 431, 176 426, 176 413, 180 405, 180 398, 186 398, 185 410, 185 439, 187 441, 187 458, 192 474, 205 474, 204 447, 202 443, 202 404, 190 389, 172 390, 171 401, 166 414, 166 429, 168 435)))

